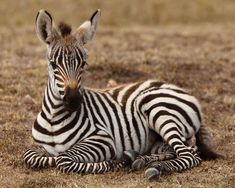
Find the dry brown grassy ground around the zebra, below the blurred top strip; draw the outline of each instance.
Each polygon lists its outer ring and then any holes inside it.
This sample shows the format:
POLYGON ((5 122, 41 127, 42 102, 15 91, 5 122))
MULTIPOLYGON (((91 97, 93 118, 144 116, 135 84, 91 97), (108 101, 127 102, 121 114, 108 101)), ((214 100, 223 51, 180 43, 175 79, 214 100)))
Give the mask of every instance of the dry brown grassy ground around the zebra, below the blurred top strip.
POLYGON ((0 28, 0 187, 235 187, 235 24, 104 24, 87 46, 85 86, 158 79, 186 88, 201 102, 214 149, 225 158, 152 182, 144 171, 81 176, 24 166, 47 65, 33 21, 21 24, 0 28))

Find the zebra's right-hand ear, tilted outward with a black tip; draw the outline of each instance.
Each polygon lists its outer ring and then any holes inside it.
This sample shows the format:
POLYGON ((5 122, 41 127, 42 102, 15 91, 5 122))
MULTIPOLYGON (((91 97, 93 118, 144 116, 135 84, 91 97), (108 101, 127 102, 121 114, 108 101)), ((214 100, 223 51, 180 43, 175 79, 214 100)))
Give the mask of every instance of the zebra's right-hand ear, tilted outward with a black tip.
POLYGON ((100 20, 101 11, 96 10, 90 20, 85 21, 74 33, 75 37, 83 44, 88 43, 93 39, 100 20))

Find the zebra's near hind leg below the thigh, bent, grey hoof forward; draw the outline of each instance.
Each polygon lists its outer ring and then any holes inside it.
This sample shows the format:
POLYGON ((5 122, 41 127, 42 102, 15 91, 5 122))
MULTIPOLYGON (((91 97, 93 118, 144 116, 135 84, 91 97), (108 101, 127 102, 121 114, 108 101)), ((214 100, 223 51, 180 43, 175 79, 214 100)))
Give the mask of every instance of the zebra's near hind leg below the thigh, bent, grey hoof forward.
POLYGON ((174 149, 177 157, 168 161, 152 161, 145 171, 145 176, 149 180, 158 177, 162 172, 182 171, 200 164, 201 158, 196 153, 196 148, 186 146, 180 134, 174 132, 170 137, 163 138, 174 149))

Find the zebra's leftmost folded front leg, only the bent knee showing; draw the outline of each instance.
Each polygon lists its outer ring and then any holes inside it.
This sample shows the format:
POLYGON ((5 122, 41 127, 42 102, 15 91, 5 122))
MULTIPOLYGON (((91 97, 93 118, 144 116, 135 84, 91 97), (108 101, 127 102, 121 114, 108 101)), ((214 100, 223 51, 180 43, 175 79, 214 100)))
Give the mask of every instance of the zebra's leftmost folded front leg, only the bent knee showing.
POLYGON ((55 157, 50 156, 42 146, 34 146, 23 155, 24 163, 35 169, 54 167, 55 157))

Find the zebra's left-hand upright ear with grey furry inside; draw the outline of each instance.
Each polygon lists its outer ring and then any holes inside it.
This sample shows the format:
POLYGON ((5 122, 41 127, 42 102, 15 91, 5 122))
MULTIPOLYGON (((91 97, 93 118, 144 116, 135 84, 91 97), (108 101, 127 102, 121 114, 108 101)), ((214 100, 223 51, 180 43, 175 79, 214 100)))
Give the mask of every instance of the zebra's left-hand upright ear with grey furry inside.
POLYGON ((52 17, 46 10, 39 10, 36 17, 36 33, 38 38, 49 44, 48 37, 52 35, 52 17))

